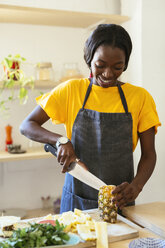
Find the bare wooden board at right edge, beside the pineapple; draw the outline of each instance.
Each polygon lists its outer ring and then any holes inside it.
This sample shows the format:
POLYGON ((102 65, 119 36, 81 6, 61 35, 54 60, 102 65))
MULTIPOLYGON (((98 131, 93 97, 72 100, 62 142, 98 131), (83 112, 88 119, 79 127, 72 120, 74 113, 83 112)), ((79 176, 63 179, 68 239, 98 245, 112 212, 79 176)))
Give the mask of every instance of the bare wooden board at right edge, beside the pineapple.
POLYGON ((130 220, 165 238, 165 201, 125 207, 123 214, 130 220))

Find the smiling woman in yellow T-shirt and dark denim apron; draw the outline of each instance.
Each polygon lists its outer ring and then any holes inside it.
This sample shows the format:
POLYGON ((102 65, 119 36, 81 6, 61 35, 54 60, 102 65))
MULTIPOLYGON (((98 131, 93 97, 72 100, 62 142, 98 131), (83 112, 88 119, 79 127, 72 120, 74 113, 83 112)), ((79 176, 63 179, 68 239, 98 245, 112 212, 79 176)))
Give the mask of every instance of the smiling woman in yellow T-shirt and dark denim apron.
MULTIPOLYGON (((82 165, 114 190, 120 209, 134 200, 156 163, 155 133, 160 125, 155 103, 143 88, 119 81, 127 69, 132 42, 124 28, 99 25, 87 39, 84 58, 91 78, 68 80, 37 98, 38 106, 23 121, 28 138, 57 147, 65 173, 70 163, 82 165), (64 123, 67 137, 42 127, 51 118, 64 123), (141 157, 134 176, 133 151, 140 139, 141 157)), ((97 207, 95 189, 66 173, 61 213, 97 207)))

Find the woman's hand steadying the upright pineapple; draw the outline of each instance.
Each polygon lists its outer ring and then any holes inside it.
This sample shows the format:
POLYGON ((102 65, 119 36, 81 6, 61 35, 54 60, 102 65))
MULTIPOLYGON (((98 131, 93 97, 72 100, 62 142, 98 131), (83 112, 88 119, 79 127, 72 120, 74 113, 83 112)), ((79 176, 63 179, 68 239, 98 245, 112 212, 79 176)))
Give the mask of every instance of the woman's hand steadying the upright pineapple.
POLYGON ((113 194, 115 194, 113 201, 122 209, 129 202, 134 201, 140 192, 141 189, 133 182, 124 182, 116 186, 115 190, 113 190, 113 194))

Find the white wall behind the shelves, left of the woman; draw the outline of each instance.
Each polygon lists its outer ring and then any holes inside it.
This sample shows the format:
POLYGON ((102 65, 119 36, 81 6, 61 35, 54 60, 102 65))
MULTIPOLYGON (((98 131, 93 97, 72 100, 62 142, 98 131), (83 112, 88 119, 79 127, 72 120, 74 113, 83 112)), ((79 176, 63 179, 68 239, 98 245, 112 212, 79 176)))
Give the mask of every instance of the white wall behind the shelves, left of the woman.
MULTIPOLYGON (((0 0, 0 3, 111 14, 120 12, 119 0, 0 0)), ((65 62, 77 62, 81 73, 84 76, 89 74, 83 60, 83 47, 89 30, 0 23, 0 33, 0 61, 10 53, 20 53, 33 64, 52 62, 55 80, 60 78, 65 62)), ((27 65, 26 70, 30 74, 34 73, 32 65, 27 65)), ((9 119, 0 115, 0 150, 5 149, 7 124, 13 126, 14 143, 22 144, 23 148, 31 146, 31 142, 19 133, 19 125, 36 106, 34 98, 40 94, 40 90, 43 91, 38 89, 31 92, 26 106, 20 106, 16 102, 10 105, 9 119)), ((6 94, 8 91, 5 91, 6 94)), ((62 125, 54 126, 49 121, 45 126, 54 132, 65 134, 62 125)), ((39 144, 33 143, 34 147, 37 145, 39 144)), ((0 163, 0 209, 41 207, 40 197, 59 196, 63 182, 64 175, 60 173, 54 158, 0 163)))

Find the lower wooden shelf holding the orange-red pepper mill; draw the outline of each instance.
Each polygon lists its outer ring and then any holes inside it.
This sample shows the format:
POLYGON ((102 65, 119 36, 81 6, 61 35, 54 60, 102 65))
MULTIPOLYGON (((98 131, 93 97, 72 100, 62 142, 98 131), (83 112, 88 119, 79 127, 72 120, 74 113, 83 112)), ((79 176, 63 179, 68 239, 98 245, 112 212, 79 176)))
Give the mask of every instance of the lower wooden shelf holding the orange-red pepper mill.
POLYGON ((45 152, 44 148, 27 149, 26 153, 20 153, 20 154, 11 154, 6 151, 0 151, 0 162, 51 158, 52 156, 53 155, 50 152, 45 152))

